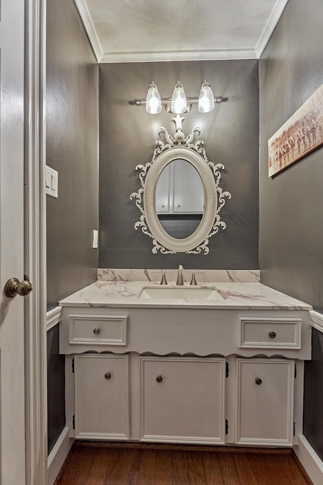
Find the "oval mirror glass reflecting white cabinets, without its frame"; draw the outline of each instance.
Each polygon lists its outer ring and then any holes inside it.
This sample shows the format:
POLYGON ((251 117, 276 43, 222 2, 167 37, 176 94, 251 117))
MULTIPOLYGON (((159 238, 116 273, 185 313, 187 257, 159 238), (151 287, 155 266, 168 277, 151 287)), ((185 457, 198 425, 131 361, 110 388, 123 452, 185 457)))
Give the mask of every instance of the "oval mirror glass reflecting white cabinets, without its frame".
POLYGON ((186 160, 170 162, 156 185, 155 204, 164 230, 185 239, 200 225, 204 212, 204 188, 196 168, 186 160))

